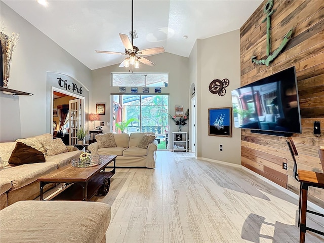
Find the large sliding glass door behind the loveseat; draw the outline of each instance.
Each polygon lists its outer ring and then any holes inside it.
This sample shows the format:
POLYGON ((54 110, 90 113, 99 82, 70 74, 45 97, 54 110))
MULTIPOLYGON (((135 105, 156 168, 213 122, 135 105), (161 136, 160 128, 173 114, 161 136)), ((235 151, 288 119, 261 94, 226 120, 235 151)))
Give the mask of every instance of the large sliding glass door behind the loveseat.
POLYGON ((112 95, 114 133, 155 133, 158 149, 166 149, 169 95, 112 95))

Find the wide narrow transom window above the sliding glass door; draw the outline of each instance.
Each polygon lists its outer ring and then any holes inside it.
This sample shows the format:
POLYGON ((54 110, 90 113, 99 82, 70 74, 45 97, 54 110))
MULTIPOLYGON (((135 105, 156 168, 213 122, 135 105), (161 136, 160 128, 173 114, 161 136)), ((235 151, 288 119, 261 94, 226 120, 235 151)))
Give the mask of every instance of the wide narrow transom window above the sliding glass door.
POLYGON ((168 87, 169 73, 111 73, 113 87, 168 87))

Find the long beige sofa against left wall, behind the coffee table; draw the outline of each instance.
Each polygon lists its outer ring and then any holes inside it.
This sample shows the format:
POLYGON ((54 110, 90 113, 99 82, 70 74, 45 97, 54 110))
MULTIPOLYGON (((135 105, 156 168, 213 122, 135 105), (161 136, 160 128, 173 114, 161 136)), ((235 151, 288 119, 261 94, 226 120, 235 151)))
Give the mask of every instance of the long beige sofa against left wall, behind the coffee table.
MULTIPOLYGON (((44 142, 51 142, 52 140, 51 134, 16 140, 42 151, 45 154, 46 162, 15 167, 10 166, 8 160, 15 149, 16 142, 0 143, 0 157, 2 160, 0 164, 0 209, 12 205, 16 201, 35 199, 39 196, 37 178, 72 163, 72 159, 77 158, 82 152, 74 146, 66 146, 68 152, 49 156, 44 147, 44 142)), ((50 187, 53 187, 53 184, 49 184, 45 190, 50 187)))

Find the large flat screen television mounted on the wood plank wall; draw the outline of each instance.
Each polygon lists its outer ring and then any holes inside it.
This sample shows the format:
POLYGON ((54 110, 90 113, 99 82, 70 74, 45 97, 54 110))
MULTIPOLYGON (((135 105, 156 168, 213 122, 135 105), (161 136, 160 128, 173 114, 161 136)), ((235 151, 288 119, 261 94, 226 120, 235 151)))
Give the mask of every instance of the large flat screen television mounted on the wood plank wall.
POLYGON ((295 67, 233 90, 232 104, 235 128, 280 136, 302 131, 295 67))

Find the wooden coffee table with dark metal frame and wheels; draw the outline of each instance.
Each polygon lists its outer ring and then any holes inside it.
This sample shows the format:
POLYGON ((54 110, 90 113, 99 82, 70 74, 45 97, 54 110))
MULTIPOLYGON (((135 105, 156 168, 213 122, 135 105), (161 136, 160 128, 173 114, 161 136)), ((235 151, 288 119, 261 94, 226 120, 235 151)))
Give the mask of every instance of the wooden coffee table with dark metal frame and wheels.
POLYGON ((61 191, 48 198, 48 200, 83 200, 89 201, 94 195, 106 195, 110 187, 110 178, 115 174, 116 155, 100 155, 102 164, 87 168, 73 167, 71 164, 52 171, 37 181, 40 182, 41 197, 43 188, 49 183, 66 183, 67 186, 61 191), (105 171, 108 164, 113 161, 111 171, 105 171))

